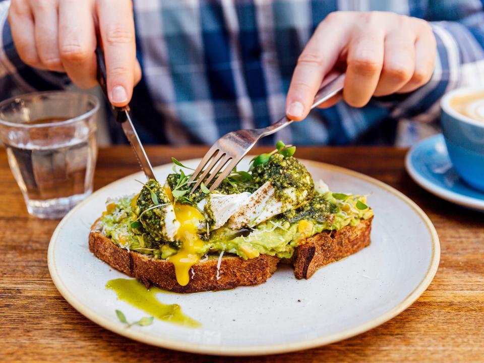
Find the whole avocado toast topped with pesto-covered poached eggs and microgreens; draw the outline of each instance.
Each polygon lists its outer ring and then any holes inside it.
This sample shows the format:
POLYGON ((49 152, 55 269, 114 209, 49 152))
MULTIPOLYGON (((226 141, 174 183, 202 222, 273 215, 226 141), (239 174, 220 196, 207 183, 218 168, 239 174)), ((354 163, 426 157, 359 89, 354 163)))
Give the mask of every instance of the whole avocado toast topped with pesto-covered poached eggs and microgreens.
POLYGON ((89 249, 147 286, 176 292, 259 284, 279 262, 309 278, 370 244, 373 211, 365 196, 315 184, 294 150, 279 142, 215 191, 202 184, 191 195, 189 168, 173 159, 164 185, 151 179, 139 194, 106 202, 89 249))

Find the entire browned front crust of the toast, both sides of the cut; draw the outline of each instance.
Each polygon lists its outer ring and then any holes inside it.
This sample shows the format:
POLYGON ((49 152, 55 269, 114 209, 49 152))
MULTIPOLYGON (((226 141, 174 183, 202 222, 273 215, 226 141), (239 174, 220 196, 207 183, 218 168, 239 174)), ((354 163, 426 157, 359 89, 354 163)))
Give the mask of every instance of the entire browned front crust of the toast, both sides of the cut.
MULTIPOLYGON (((354 227, 346 226, 338 231, 315 234, 295 249, 290 260, 284 259, 283 262, 292 263, 296 278, 308 279, 320 267, 370 245, 372 220, 373 217, 362 220, 354 227)), ((220 268, 217 269, 218 258, 209 258, 195 264, 190 272, 190 282, 181 286, 176 281, 171 262, 119 248, 98 230, 97 222, 89 234, 89 251, 116 270, 137 278, 147 287, 155 285, 168 291, 190 293, 257 285, 272 276, 281 260, 268 255, 248 260, 238 256, 223 256, 220 268)))

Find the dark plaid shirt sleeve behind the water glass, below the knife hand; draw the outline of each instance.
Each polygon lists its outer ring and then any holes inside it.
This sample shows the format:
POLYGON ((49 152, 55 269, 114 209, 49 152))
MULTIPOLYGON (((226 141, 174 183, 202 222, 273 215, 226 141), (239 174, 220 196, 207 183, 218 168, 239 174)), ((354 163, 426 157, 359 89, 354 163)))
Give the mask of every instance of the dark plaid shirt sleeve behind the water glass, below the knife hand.
POLYGON ((21 61, 7 21, 9 7, 10 1, 0 2, 0 100, 19 93, 67 87, 70 80, 65 73, 36 70, 21 61))

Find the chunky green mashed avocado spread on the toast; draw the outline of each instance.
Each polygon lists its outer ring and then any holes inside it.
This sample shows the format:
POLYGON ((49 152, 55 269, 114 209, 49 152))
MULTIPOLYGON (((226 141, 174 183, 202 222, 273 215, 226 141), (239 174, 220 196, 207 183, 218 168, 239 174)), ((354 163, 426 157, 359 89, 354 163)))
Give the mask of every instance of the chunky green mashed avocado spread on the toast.
MULTIPOLYGON (((158 259, 174 255, 179 248, 177 243, 157 241, 143 226, 132 227, 133 220, 137 218, 132 206, 137 206, 137 200, 139 198, 132 197, 108 200, 101 218, 103 232, 113 243, 127 250, 152 255, 158 259)), ((354 226, 361 219, 372 216, 373 211, 366 206, 365 196, 316 192, 306 205, 275 216, 253 229, 234 231, 223 226, 211 231, 204 238, 203 248, 197 252, 206 254, 224 251, 246 260, 260 254, 290 258, 294 248, 306 237, 323 230, 354 226)))

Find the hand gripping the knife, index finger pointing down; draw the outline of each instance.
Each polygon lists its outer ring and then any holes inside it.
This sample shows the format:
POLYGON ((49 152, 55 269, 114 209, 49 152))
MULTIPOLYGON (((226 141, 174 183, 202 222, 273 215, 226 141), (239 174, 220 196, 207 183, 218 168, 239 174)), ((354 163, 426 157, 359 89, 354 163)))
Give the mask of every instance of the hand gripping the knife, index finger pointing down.
POLYGON ((12 37, 29 66, 67 72, 81 88, 96 82, 96 28, 111 103, 126 105, 141 78, 131 0, 12 0, 12 37))

